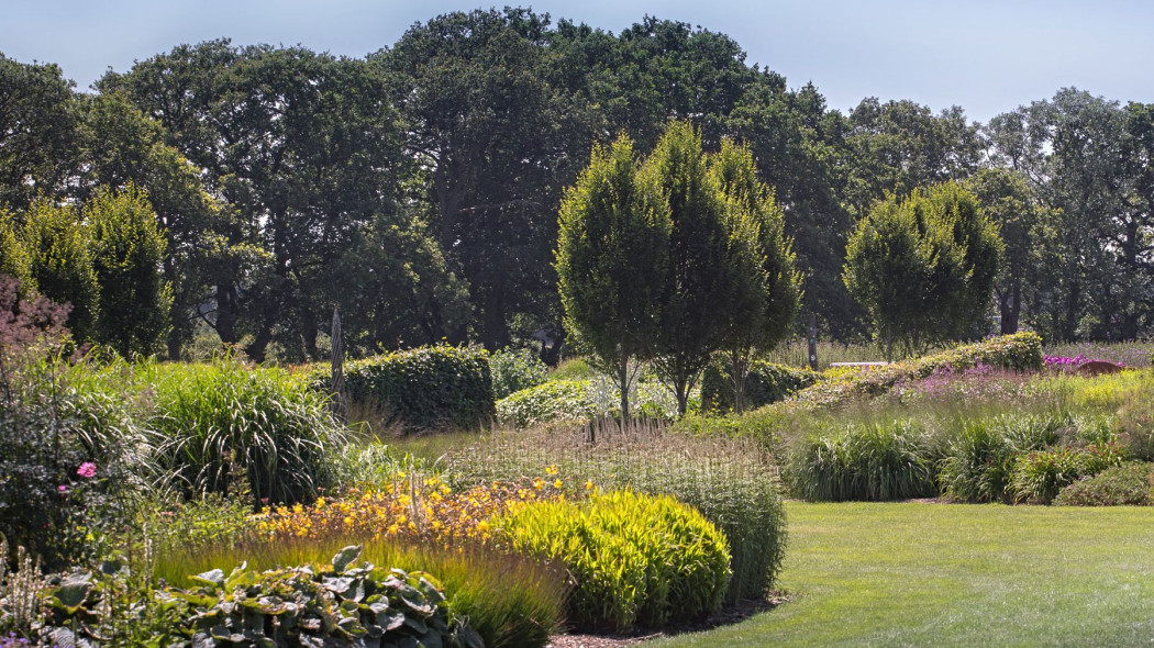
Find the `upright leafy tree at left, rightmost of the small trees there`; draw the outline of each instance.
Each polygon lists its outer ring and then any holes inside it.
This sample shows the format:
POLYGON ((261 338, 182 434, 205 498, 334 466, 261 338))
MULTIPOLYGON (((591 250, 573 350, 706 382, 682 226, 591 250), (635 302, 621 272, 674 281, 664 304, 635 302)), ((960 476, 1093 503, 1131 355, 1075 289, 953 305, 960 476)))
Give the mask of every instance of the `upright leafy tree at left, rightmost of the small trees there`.
POLYGON ((153 354, 171 325, 172 287, 152 205, 133 184, 103 189, 84 205, 84 220, 100 287, 95 339, 125 357, 153 354))

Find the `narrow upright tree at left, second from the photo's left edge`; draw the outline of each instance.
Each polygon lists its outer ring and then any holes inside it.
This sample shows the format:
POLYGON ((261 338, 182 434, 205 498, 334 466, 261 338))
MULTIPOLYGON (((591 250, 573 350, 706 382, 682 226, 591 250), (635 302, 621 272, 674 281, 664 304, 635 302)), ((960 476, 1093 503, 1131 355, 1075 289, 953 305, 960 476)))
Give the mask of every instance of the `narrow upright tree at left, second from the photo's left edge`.
POLYGON ((77 341, 96 339, 100 287, 92 265, 91 236, 78 210, 40 198, 24 214, 18 239, 28 253, 37 291, 72 307, 66 324, 77 341))

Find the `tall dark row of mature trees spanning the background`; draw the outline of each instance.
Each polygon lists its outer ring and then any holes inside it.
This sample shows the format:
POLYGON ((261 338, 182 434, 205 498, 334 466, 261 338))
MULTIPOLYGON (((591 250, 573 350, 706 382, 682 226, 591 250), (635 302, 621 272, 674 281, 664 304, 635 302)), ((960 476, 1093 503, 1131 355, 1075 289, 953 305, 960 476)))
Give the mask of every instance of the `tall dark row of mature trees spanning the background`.
MULTIPOLYGON (((826 336, 871 333, 842 279, 856 223, 949 180, 1001 228, 1004 332, 1154 326, 1154 105, 1064 89, 988 125, 909 100, 842 114, 721 33, 646 17, 613 35, 520 8, 439 16, 362 59, 181 45, 93 93, 0 55, 0 268, 44 257, 35 248, 51 243, 28 234, 37 213, 63 210, 92 236, 84 205, 147 198, 166 323, 129 351, 179 357, 201 326, 256 360, 316 357, 339 308, 353 353, 537 337, 555 356, 563 191, 594 143, 627 134, 647 155, 670 120, 709 151, 749 148, 784 213, 802 309, 826 336)), ((48 264, 25 274, 75 307, 48 264)), ((115 293, 108 281, 92 291, 115 293)), ((123 308, 105 301, 105 317, 123 308)))

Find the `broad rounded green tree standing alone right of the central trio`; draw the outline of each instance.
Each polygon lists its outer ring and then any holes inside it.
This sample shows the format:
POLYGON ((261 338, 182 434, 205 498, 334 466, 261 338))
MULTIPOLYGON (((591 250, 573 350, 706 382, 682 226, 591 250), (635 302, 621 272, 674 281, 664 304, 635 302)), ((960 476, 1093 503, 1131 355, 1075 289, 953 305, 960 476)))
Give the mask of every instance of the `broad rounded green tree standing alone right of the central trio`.
POLYGON ((874 205, 846 255, 846 287, 893 356, 971 333, 989 306, 1002 240, 977 199, 954 182, 874 205))

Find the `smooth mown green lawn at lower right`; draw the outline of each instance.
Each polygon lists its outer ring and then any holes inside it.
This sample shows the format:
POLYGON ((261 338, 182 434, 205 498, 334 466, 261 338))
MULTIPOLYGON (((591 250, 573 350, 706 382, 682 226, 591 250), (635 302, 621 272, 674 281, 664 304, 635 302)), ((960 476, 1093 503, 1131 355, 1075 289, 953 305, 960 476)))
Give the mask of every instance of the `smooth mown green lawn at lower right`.
POLYGON ((793 600, 654 645, 1154 645, 1154 508, 787 510, 793 600))

